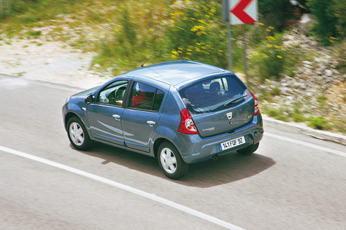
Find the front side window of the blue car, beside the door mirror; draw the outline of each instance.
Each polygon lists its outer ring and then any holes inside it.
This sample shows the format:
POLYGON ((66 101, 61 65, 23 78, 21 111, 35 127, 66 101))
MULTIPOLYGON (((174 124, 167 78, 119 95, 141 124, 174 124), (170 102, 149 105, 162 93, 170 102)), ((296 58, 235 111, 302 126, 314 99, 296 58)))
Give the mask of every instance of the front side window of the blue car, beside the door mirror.
POLYGON ((98 97, 98 103, 122 106, 127 83, 127 81, 116 81, 102 89, 98 97))

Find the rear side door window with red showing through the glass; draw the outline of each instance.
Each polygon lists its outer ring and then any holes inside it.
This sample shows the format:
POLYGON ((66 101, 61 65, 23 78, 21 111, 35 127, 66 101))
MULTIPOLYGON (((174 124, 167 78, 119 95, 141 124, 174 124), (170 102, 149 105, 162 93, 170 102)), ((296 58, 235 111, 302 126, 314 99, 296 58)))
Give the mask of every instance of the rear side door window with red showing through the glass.
POLYGON ((134 88, 132 88, 129 107, 147 111, 158 111, 164 94, 162 90, 153 86, 136 82, 134 88))

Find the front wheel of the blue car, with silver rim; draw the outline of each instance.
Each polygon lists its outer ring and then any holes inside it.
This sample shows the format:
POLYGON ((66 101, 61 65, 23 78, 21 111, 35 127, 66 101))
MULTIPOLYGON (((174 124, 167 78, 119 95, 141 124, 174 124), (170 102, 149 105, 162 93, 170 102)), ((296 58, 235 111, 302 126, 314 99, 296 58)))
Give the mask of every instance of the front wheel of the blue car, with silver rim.
POLYGON ((86 150, 91 147, 92 140, 89 137, 83 122, 78 117, 71 117, 67 122, 67 135, 74 148, 86 150))

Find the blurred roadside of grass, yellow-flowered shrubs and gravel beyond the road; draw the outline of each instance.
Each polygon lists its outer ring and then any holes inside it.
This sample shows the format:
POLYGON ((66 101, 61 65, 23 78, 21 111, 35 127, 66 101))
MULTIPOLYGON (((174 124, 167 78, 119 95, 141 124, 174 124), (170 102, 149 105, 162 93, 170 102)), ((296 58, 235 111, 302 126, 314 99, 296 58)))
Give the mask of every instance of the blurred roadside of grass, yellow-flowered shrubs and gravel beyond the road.
MULTIPOLYGON (((144 63, 228 68, 221 10, 212 0, 0 0, 0 73, 91 87, 144 63)), ((259 23, 231 28, 233 72, 262 113, 346 133, 345 0, 258 0, 258 12, 259 23)))

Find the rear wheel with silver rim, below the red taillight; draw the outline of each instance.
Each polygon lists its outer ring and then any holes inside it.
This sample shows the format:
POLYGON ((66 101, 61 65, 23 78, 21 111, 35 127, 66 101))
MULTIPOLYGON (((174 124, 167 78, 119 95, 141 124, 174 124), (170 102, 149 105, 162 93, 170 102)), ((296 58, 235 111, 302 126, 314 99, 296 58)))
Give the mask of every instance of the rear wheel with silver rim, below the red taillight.
POLYGON ((157 156, 158 165, 167 178, 178 179, 188 172, 188 164, 183 161, 179 151, 172 143, 161 143, 157 156))

